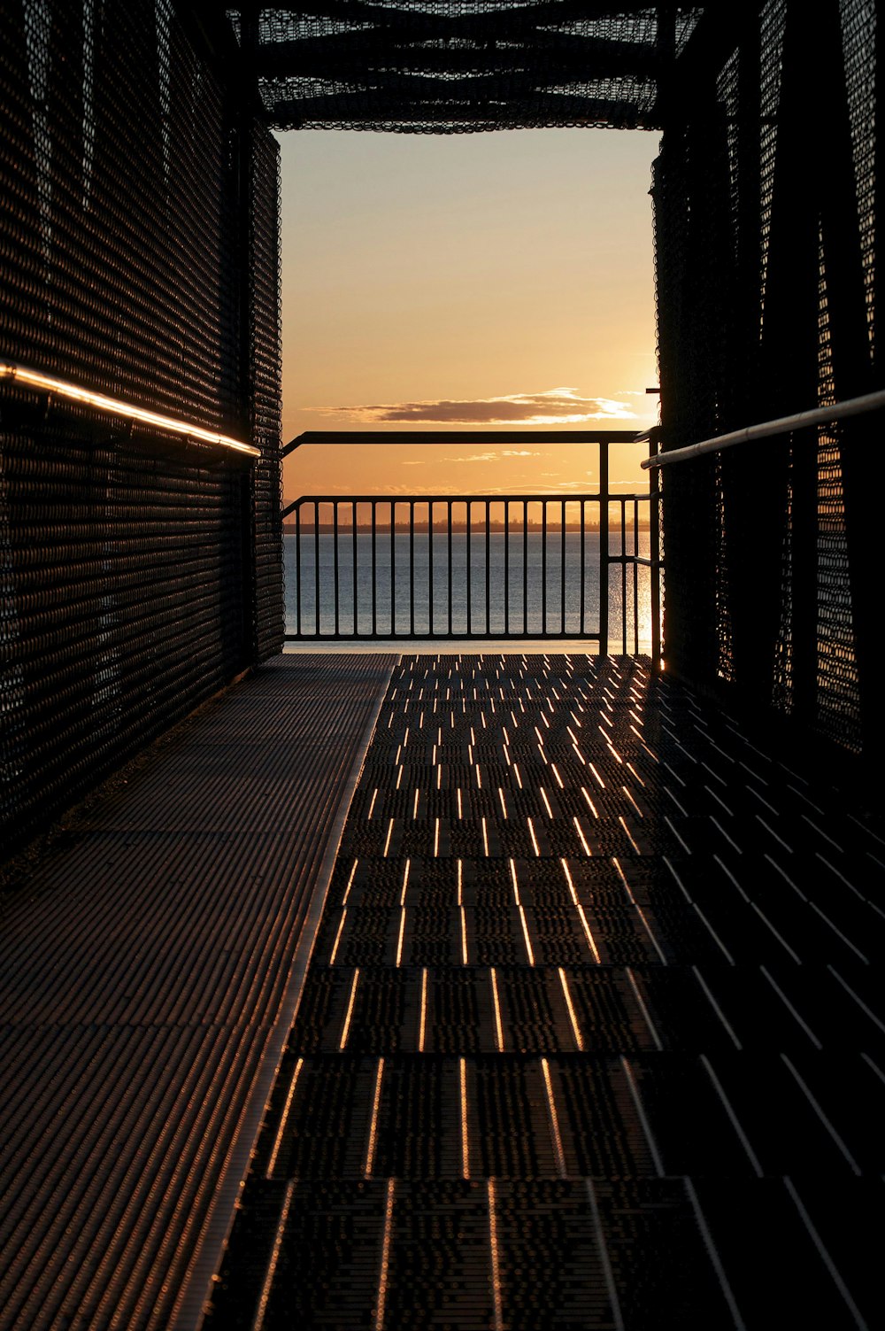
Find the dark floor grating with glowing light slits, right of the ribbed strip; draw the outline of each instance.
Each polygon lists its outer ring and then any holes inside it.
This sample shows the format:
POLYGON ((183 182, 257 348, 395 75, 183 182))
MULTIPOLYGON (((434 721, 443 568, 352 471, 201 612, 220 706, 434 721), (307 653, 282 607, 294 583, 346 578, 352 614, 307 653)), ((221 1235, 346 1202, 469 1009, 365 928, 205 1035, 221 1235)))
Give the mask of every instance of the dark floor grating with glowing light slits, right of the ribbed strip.
POLYGON ((206 1327, 881 1326, 885 844, 635 659, 394 671, 206 1327))

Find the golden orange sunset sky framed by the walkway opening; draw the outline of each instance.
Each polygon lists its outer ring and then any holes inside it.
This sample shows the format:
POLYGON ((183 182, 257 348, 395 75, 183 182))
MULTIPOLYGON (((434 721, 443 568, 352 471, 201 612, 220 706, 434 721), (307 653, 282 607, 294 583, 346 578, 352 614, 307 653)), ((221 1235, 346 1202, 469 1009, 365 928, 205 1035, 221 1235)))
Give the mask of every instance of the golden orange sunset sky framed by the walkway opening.
MULTIPOLYGON (((281 134, 283 434, 656 421, 657 136, 281 134)), ((641 446, 612 480, 645 488, 641 446)), ((299 494, 575 492, 595 450, 305 447, 299 494)))

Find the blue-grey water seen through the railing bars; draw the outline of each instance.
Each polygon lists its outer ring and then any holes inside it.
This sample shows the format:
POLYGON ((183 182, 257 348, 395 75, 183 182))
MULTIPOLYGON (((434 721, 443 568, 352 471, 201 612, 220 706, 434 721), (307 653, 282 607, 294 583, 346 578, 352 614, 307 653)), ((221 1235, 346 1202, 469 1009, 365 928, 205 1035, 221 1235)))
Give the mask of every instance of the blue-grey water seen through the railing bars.
MULTIPOLYGON (((632 554, 632 535, 627 550, 632 554)), ((648 555, 648 531, 637 536, 648 555)), ((319 636, 398 638, 454 634, 459 638, 504 635, 507 631, 580 636, 599 632, 599 534, 587 532, 582 559, 580 532, 528 535, 452 532, 451 560, 446 534, 378 532, 373 576, 371 534, 285 536, 286 631, 319 636), (335 559, 337 554, 337 559, 335 559), (544 595, 546 590, 546 595, 544 595), (335 595, 337 591, 337 595, 335 595), (583 603, 582 603, 583 596, 583 603), (335 615, 337 602, 337 615, 335 615)), ((610 555, 620 555, 620 531, 611 532, 610 555)), ((608 651, 651 650, 649 570, 611 566, 608 578, 608 651), (625 626, 624 626, 625 616, 625 626)))

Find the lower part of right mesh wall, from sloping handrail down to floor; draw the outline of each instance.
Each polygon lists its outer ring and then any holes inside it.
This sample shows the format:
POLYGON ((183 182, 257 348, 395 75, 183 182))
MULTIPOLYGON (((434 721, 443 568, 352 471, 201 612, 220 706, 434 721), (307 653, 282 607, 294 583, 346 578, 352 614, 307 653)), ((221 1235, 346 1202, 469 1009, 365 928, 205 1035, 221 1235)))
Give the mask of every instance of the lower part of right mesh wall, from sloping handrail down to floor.
POLYGON ((652 492, 661 474, 667 487, 677 673, 874 761, 885 713, 872 572, 880 523, 866 465, 884 411, 877 390, 665 451, 652 430, 641 462, 652 492), (685 514, 701 515, 705 544, 684 539, 685 514))

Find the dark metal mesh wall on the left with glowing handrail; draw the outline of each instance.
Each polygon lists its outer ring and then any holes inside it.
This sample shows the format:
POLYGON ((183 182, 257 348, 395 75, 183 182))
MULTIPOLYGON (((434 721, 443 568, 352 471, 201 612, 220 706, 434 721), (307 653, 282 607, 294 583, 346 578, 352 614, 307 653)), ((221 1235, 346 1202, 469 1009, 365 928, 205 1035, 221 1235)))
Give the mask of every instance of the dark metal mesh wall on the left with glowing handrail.
POLYGON ((277 156, 237 59, 173 0, 0 5, 0 363, 262 449, 0 375, 11 848, 281 643, 277 156))

